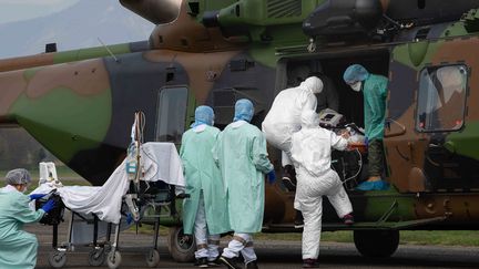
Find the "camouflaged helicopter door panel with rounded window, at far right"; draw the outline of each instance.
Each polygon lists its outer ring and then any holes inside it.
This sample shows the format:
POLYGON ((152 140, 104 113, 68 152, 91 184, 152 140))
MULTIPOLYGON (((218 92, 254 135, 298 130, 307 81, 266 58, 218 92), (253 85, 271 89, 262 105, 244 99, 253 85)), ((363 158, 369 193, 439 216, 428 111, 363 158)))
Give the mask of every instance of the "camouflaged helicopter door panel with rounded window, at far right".
POLYGON ((455 39, 394 49, 385 146, 389 180, 399 192, 479 187, 473 123, 468 122, 477 110, 470 92, 477 45, 477 39, 455 39))

